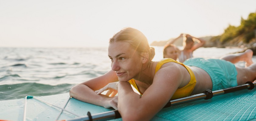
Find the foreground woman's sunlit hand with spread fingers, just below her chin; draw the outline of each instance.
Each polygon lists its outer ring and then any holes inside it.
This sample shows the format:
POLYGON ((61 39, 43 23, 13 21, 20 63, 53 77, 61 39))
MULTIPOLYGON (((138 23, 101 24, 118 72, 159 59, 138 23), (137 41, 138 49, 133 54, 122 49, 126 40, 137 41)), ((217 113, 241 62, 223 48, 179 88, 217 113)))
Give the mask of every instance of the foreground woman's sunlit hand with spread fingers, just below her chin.
POLYGON ((113 97, 117 94, 117 87, 118 87, 118 83, 119 82, 113 82, 113 83, 109 83, 107 84, 105 87, 101 88, 100 90, 96 90, 95 92, 97 94, 101 94, 102 92, 108 90, 108 92, 106 93, 107 96, 113 97))

